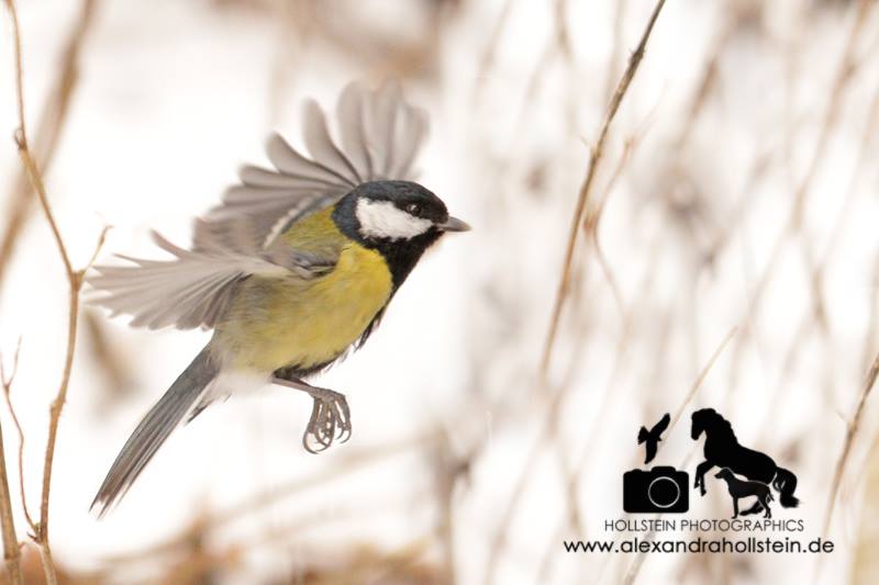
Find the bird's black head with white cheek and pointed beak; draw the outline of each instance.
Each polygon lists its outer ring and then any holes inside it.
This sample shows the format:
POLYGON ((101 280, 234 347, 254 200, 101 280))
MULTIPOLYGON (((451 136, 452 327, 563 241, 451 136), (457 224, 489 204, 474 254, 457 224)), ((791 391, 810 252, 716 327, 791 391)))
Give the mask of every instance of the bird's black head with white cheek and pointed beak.
POLYGON ((426 247, 446 232, 470 228, 452 217, 438 196, 411 181, 361 183, 336 204, 333 220, 346 236, 376 248, 414 240, 426 247))

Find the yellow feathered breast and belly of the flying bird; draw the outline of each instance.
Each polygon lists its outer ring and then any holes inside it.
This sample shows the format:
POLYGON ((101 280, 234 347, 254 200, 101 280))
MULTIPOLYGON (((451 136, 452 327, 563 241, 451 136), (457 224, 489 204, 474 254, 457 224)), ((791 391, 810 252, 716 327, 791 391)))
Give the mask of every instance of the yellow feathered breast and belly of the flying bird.
POLYGON ((336 267, 324 277, 244 281, 214 339, 238 369, 318 365, 363 335, 391 290, 381 255, 347 240, 336 267))

